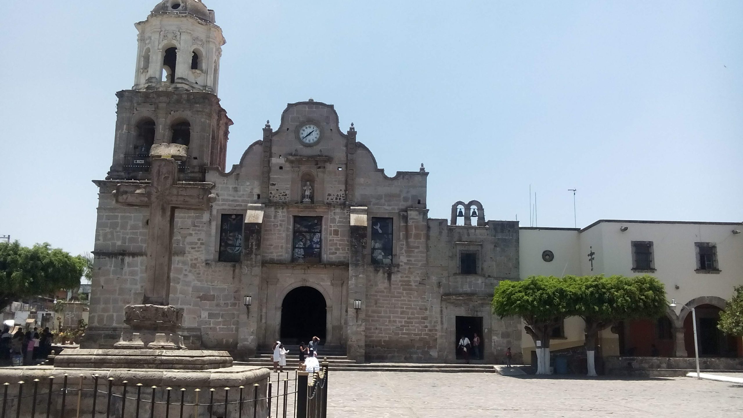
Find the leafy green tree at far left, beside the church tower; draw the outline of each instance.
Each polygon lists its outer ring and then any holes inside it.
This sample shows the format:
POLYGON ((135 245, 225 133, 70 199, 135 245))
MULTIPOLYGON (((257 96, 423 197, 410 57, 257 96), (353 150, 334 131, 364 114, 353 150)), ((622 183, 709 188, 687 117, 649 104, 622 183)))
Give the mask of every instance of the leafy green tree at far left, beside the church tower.
POLYGON ((49 295, 80 286, 85 269, 81 256, 71 256, 47 242, 24 247, 0 243, 0 306, 19 298, 49 295))

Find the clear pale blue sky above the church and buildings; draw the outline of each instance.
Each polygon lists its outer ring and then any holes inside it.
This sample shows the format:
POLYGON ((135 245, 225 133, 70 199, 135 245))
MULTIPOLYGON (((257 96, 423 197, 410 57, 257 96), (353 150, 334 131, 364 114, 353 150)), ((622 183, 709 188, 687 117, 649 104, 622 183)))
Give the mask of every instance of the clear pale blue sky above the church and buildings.
MULTIPOLYGON (((91 251, 116 97, 156 0, 6 1, 0 234, 91 251)), ((286 103, 333 103, 431 217, 743 220, 743 1, 227 1, 228 167, 286 103)))

